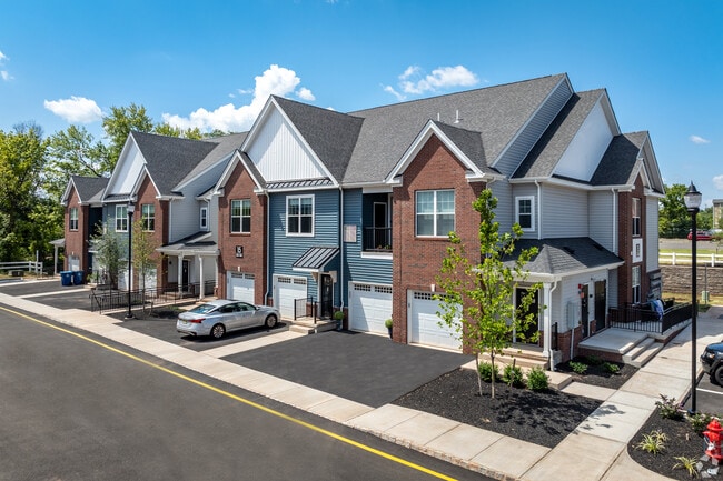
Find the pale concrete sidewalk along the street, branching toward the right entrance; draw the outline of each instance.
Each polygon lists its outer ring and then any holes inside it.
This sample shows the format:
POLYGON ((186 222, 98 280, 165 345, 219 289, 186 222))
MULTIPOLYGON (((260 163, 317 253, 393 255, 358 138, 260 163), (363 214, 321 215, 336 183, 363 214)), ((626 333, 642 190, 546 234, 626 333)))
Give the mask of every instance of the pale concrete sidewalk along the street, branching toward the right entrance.
MULTIPOLYGON (((655 410, 660 394, 682 399, 690 389, 691 327, 684 329, 620 390, 572 383, 565 391, 603 401, 577 429, 549 449, 445 418, 385 404, 372 408, 324 391, 130 331, 113 318, 61 310, 0 293, 0 303, 83 329, 241 389, 339 422, 497 479, 547 481, 664 480, 627 455, 627 443, 655 410)), ((697 322, 697 352, 723 337, 723 308, 697 322)), ((283 342, 288 339, 276 339, 283 342)))

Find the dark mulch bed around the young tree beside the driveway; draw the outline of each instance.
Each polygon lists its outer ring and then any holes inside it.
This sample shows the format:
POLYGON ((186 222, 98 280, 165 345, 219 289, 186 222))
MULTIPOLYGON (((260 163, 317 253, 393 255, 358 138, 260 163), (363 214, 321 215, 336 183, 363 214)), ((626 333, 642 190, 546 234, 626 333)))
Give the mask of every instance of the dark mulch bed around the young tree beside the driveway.
POLYGON ((554 448, 587 418, 601 402, 563 392, 483 383, 477 373, 457 369, 394 401, 397 405, 437 414, 499 434, 554 448))

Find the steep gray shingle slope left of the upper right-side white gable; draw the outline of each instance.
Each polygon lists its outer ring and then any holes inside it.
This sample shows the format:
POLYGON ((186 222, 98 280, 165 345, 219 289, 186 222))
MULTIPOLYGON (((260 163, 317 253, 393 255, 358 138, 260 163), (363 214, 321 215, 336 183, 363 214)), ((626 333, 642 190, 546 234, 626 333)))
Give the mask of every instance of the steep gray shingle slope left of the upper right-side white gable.
POLYGON ((580 131, 581 126, 604 92, 605 90, 597 89, 573 93, 512 178, 552 177, 570 142, 580 131))

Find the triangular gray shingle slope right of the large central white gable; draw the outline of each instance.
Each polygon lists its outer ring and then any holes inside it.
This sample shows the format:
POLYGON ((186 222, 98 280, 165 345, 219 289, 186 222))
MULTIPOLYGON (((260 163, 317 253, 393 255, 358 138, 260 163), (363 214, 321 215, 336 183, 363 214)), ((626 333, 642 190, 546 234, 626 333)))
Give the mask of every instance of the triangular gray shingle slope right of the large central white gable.
POLYGON ((363 119, 274 97, 331 176, 341 181, 363 119))

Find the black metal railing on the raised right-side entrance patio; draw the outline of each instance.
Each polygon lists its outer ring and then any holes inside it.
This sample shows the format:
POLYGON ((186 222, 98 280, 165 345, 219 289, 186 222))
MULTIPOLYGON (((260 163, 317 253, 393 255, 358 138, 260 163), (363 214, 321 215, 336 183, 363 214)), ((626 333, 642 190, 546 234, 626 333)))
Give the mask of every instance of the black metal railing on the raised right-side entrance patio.
POLYGON ((693 317, 693 307, 690 303, 674 304, 668 300, 664 302, 664 305, 662 317, 648 304, 625 304, 611 308, 610 325, 611 328, 662 334, 693 317))

